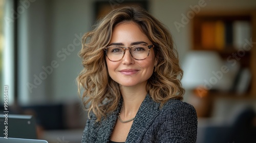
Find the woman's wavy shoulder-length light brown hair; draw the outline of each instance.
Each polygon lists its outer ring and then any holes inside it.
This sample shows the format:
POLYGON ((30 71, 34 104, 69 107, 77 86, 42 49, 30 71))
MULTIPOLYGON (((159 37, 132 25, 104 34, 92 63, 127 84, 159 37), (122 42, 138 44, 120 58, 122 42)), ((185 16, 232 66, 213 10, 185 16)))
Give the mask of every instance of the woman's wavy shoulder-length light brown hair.
POLYGON ((103 17, 92 31, 83 35, 82 49, 79 52, 84 68, 77 77, 78 94, 83 89, 80 96, 84 107, 88 110, 88 115, 90 112, 96 115, 97 122, 116 110, 121 99, 118 83, 109 76, 103 49, 108 46, 115 26, 124 21, 137 23, 155 45, 158 63, 146 84, 146 90, 152 99, 160 103, 161 107, 169 99, 183 99, 184 89, 180 82, 183 70, 169 31, 140 7, 115 9, 103 17))

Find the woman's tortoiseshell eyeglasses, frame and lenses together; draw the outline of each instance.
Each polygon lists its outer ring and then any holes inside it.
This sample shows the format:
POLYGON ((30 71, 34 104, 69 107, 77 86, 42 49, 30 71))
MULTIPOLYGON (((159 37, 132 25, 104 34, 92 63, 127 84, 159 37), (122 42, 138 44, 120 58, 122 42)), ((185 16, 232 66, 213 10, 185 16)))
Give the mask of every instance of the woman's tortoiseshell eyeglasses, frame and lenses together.
POLYGON ((108 59, 113 62, 120 61, 123 58, 126 49, 129 49, 131 56, 135 60, 144 60, 148 55, 150 55, 150 49, 152 47, 154 47, 154 45, 150 44, 139 44, 131 47, 113 45, 105 47, 104 51, 108 59))

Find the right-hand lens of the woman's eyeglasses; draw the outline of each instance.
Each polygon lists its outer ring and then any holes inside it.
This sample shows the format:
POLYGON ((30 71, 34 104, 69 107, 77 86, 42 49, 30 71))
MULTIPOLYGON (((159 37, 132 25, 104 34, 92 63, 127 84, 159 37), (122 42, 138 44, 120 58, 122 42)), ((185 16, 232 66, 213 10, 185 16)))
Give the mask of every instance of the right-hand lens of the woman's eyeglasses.
POLYGON ((148 49, 147 45, 135 45, 131 49, 131 53, 134 59, 143 60, 148 56, 148 49))

